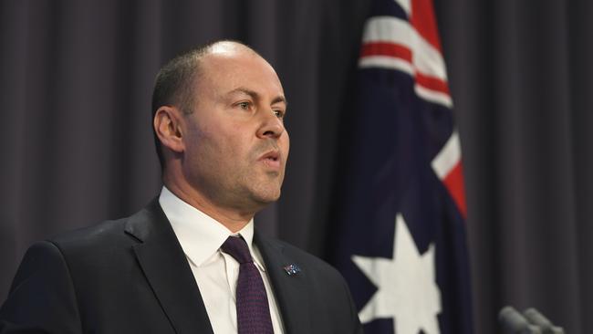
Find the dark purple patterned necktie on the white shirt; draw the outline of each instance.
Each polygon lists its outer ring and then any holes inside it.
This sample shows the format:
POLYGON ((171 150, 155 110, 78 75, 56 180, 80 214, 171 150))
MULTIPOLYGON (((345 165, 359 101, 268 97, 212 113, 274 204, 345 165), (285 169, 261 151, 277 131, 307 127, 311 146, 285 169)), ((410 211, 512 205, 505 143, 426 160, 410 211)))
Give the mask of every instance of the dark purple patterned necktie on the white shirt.
POLYGON ((221 249, 240 265, 236 290, 238 334, 274 334, 264 281, 243 237, 229 236, 221 249))

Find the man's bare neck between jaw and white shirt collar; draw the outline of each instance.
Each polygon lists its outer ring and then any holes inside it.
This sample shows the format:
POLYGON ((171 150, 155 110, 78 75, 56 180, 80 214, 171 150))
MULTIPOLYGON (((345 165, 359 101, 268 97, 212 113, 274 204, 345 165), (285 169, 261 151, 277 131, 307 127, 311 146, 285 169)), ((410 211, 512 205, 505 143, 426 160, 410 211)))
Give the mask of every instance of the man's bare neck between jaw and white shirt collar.
POLYGON ((204 214, 208 214, 233 233, 243 229, 255 215, 252 212, 242 212, 234 208, 225 208, 221 205, 214 204, 203 193, 190 186, 182 186, 179 183, 174 183, 166 177, 163 177, 163 183, 170 192, 182 199, 183 202, 192 205, 204 214))

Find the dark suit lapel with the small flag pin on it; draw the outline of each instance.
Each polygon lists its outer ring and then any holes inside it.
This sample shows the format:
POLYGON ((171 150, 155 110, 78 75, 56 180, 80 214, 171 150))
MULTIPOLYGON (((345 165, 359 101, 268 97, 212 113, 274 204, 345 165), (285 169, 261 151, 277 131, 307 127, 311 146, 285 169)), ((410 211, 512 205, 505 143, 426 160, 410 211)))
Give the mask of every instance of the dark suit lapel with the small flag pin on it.
POLYGON ((289 276, 284 269, 288 265, 300 266, 284 253, 284 246, 273 242, 255 230, 255 245, 264 257, 265 271, 270 277, 274 296, 282 314, 286 334, 310 333, 310 318, 307 311, 307 270, 289 276))

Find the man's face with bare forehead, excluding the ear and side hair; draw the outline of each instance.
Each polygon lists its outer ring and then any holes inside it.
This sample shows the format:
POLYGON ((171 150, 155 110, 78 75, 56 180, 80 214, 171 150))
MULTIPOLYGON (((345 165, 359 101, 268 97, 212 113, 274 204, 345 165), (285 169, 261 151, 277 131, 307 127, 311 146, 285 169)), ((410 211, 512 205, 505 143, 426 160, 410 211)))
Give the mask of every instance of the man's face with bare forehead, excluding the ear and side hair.
POLYGON ((213 204, 248 211, 276 201, 284 180, 286 99, 274 69, 244 48, 203 57, 185 115, 182 169, 213 204))

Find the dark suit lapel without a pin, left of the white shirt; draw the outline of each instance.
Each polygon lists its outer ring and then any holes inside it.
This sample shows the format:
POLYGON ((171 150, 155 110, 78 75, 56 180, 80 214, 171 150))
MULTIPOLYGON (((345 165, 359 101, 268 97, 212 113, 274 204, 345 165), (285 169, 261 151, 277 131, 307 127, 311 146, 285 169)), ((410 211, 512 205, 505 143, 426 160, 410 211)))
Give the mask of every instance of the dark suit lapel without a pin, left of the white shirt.
POLYGON ((130 217, 126 233, 140 240, 134 253, 175 331, 213 333, 192 269, 156 199, 130 217))

